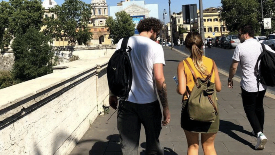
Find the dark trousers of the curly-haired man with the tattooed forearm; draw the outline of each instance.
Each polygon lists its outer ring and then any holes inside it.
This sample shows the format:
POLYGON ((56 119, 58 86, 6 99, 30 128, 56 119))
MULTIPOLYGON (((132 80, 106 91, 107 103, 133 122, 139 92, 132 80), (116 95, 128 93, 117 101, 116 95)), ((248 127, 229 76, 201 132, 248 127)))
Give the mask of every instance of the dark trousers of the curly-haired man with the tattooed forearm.
POLYGON ((123 155, 138 154, 141 124, 146 134, 146 155, 164 155, 159 141, 162 113, 158 100, 147 104, 121 101, 117 120, 123 155))

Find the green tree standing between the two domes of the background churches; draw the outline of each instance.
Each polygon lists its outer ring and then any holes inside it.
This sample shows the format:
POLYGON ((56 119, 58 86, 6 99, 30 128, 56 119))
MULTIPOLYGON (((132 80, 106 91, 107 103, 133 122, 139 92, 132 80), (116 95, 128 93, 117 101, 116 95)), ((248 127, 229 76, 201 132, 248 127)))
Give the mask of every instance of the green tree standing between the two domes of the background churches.
POLYGON ((91 17, 91 5, 81 0, 65 0, 61 6, 55 6, 49 9, 57 15, 44 19, 46 29, 45 35, 52 38, 67 37, 69 44, 74 45, 76 41, 86 44, 92 39, 92 33, 88 28, 91 17))

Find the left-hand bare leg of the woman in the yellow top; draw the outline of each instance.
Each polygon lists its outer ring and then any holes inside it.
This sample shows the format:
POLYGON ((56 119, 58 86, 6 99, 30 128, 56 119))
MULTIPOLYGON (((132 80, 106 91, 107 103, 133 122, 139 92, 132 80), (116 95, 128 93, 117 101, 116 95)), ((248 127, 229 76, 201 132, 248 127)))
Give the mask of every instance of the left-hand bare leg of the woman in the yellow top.
POLYGON ((187 130, 184 130, 186 139, 187 139, 187 145, 188 145, 188 151, 187 155, 198 155, 199 154, 199 134, 193 133, 187 130))

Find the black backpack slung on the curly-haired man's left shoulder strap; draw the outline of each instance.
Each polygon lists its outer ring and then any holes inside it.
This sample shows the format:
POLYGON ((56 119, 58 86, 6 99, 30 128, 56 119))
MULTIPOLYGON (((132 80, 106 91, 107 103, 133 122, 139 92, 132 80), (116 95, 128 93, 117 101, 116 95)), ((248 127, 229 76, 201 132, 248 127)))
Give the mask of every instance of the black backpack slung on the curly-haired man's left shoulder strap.
POLYGON ((128 52, 132 49, 127 46, 128 39, 129 37, 123 38, 120 49, 112 55, 107 67, 109 89, 122 99, 128 98, 133 80, 132 66, 128 56, 128 52))

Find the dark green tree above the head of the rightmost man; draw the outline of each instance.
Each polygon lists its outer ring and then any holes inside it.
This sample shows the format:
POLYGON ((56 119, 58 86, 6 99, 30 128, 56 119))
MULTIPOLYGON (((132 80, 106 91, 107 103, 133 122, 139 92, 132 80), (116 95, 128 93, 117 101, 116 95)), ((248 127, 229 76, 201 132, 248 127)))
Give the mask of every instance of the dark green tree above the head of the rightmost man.
POLYGON ((221 0, 222 20, 226 21, 229 31, 238 30, 239 26, 252 25, 256 32, 260 30, 260 4, 258 0, 221 0))

